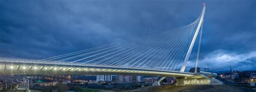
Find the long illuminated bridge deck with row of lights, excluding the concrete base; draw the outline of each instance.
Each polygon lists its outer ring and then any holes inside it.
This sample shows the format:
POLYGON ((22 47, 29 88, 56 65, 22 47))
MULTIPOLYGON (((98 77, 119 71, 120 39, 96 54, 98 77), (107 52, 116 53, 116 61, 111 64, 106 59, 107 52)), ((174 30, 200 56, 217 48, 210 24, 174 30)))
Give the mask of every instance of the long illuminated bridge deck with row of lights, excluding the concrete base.
POLYGON ((99 66, 82 63, 52 62, 38 60, 0 59, 0 74, 52 74, 52 75, 146 75, 146 76, 193 76, 193 73, 167 70, 99 66))

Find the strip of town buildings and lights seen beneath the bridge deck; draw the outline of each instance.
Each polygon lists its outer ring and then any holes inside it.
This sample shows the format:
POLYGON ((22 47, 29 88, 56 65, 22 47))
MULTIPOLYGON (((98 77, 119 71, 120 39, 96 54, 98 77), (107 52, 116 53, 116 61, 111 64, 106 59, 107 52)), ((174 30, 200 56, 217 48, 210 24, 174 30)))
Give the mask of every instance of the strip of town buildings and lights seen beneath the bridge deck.
MULTIPOLYGON (((0 76, 0 90, 17 88, 42 88, 58 86, 59 83, 68 86, 89 85, 151 85, 160 77, 133 76, 133 75, 3 75, 0 76)), ((165 83, 172 84, 175 78, 167 77, 165 83)))

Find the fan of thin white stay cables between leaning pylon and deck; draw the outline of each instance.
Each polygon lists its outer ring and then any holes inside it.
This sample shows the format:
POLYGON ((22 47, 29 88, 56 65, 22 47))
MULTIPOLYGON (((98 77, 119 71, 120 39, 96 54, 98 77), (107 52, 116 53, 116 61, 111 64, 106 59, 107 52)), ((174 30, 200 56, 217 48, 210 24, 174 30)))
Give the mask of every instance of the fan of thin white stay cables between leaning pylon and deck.
POLYGON ((42 60, 179 71, 200 17, 193 23, 120 44, 99 46, 42 60))

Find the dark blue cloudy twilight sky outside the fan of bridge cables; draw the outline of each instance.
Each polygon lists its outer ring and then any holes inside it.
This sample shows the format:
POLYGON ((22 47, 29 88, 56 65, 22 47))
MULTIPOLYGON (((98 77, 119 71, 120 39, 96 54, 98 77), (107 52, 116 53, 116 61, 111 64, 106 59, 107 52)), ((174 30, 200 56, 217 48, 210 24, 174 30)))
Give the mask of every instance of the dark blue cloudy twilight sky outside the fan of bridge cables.
POLYGON ((256 70, 255 0, 0 0, 0 56, 43 59, 138 39, 192 23, 204 2, 199 67, 256 70))

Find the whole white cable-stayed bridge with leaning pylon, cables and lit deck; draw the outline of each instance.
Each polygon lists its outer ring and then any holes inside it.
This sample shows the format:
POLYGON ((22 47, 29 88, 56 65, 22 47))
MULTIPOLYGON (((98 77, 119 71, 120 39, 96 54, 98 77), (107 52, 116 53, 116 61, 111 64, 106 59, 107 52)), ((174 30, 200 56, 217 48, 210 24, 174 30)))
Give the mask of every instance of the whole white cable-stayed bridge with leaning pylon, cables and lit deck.
POLYGON ((191 24, 126 43, 41 60, 0 58, 0 74, 172 76, 180 78, 179 84, 210 84, 216 75, 214 73, 184 72, 196 39, 199 39, 200 46, 204 13, 205 5, 201 15, 191 24))

